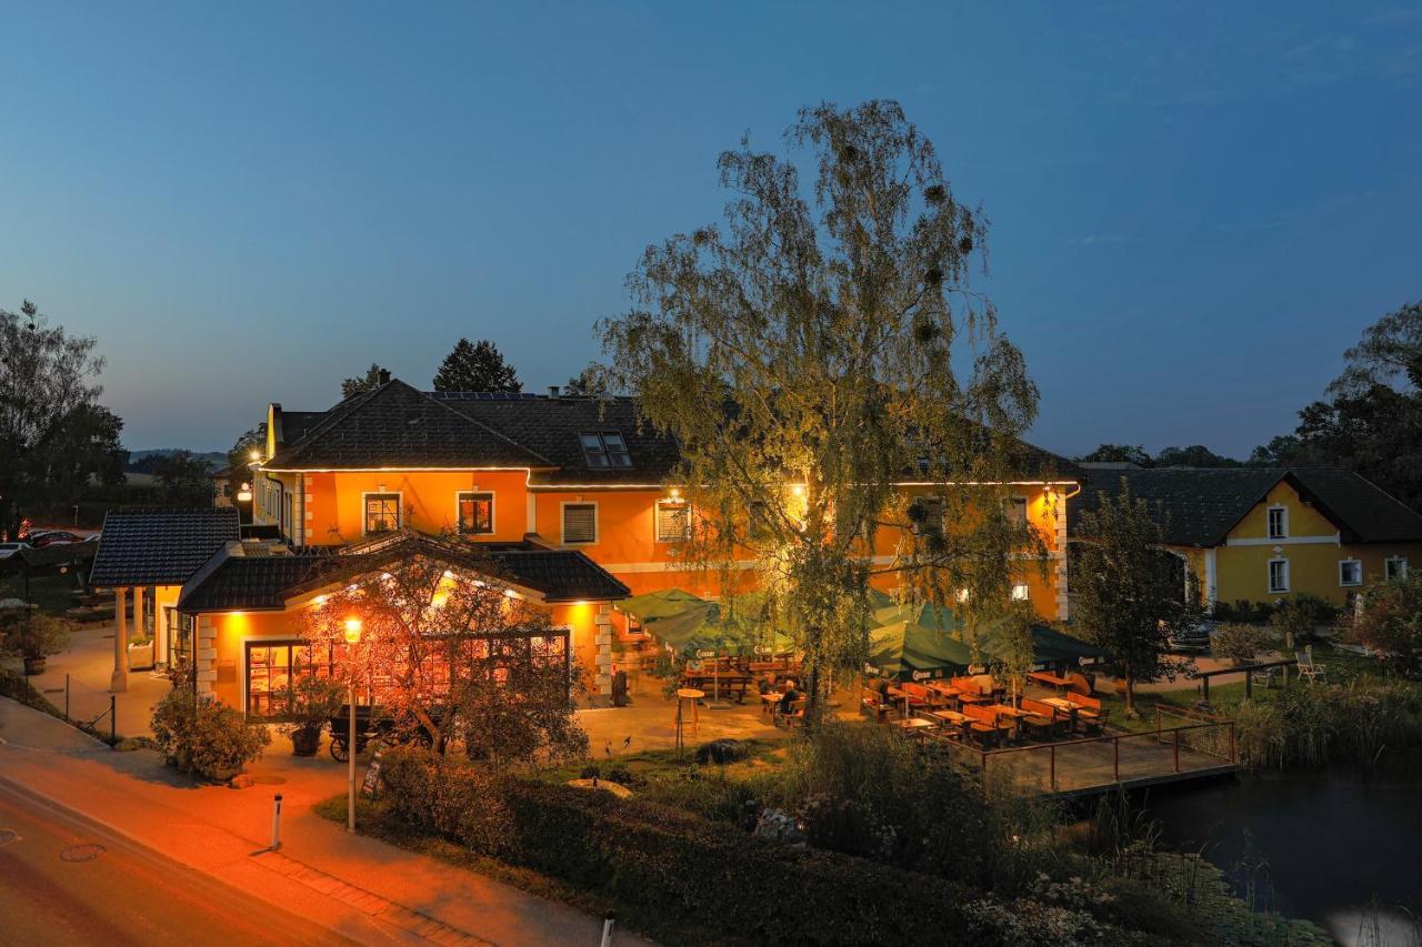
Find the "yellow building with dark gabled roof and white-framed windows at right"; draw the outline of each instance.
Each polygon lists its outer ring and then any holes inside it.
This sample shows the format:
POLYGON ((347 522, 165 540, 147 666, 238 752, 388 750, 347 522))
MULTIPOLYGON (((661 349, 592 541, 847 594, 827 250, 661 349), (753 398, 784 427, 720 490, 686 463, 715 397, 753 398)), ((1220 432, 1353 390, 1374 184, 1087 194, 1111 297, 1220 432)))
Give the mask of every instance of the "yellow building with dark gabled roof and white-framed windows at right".
POLYGON ((1170 550, 1217 603, 1308 593, 1342 606, 1422 565, 1422 515, 1338 468, 1094 468, 1074 518, 1128 486, 1159 505, 1170 550))

